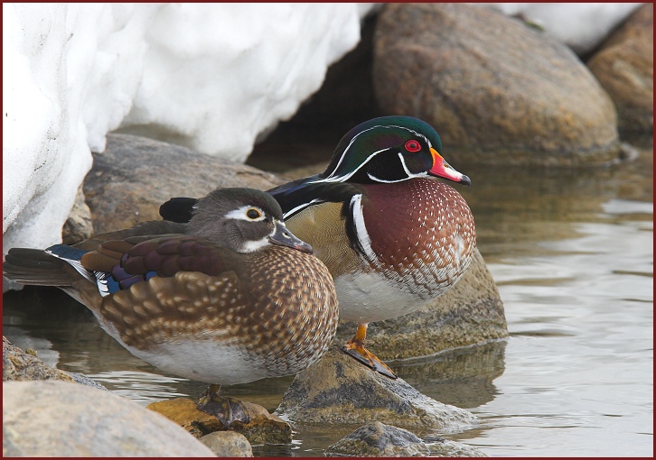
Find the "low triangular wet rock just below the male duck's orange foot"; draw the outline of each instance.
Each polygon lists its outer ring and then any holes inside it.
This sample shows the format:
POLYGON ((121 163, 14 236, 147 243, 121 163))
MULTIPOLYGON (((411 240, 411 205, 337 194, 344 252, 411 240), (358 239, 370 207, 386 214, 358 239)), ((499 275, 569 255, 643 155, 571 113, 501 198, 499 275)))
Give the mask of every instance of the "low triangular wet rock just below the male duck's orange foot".
POLYGON ((384 377, 337 347, 296 375, 275 413, 304 423, 381 421, 444 432, 462 431, 476 422, 470 412, 428 398, 403 379, 384 377))

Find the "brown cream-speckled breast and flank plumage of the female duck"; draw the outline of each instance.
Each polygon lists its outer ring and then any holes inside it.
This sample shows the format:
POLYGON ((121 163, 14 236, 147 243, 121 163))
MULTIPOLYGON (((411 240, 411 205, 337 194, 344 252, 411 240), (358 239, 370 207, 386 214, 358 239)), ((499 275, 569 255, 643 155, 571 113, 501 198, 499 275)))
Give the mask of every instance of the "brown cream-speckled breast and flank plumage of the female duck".
POLYGON ((271 376, 297 373, 323 354, 337 327, 337 303, 318 259, 272 246, 231 268, 217 276, 181 271, 87 301, 138 350, 211 337, 261 356, 271 376))

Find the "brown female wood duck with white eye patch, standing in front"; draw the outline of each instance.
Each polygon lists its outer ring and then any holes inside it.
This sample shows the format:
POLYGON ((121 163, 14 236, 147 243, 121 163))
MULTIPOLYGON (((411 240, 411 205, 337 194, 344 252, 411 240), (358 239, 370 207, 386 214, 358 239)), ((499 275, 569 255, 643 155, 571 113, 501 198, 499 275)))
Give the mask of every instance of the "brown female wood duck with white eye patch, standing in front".
POLYGON ((201 406, 229 426, 248 421, 221 384, 303 371, 333 340, 331 274, 286 228, 274 198, 218 189, 188 224, 151 221, 74 246, 10 249, 7 278, 56 286, 146 363, 211 383, 201 406))

